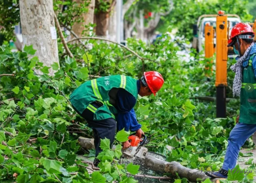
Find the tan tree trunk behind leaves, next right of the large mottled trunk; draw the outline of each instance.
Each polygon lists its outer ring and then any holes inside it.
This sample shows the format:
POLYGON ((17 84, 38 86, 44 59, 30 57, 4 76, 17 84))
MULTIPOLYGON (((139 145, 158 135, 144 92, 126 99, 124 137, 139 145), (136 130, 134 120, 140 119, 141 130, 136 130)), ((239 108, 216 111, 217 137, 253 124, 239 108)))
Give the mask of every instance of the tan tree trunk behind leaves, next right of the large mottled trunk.
MULTIPOLYGON (((78 4, 84 3, 83 0, 74 0, 78 4)), ((78 37, 82 37, 83 31, 86 30, 85 26, 89 25, 90 23, 93 24, 93 18, 94 18, 94 8, 95 8, 95 0, 87 0, 90 1, 90 5, 88 6, 88 12, 87 13, 82 13, 83 21, 82 22, 76 22, 72 26, 72 31, 77 34, 78 37)), ((86 32, 87 34, 90 33, 90 31, 86 32)), ((72 39, 74 37, 72 36, 72 39)))

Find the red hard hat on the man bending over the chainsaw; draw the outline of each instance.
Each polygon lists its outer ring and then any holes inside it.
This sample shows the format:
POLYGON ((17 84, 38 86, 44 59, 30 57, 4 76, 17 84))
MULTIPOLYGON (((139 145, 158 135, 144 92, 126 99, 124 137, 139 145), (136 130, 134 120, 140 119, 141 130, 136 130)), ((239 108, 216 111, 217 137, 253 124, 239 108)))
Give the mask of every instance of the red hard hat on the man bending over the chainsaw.
POLYGON ((161 89, 163 83, 165 83, 163 76, 157 71, 148 71, 144 72, 144 78, 148 84, 149 89, 152 91, 154 96, 156 96, 156 93, 161 89))

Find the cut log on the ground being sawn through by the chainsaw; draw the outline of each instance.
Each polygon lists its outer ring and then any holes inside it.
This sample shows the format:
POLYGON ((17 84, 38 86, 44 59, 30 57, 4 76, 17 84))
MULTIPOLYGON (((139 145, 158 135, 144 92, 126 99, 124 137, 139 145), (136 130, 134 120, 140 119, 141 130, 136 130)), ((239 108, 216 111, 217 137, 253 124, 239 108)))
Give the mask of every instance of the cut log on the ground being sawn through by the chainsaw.
MULTIPOLYGON (((80 145, 87 150, 95 148, 94 143, 93 143, 94 139, 79 137, 78 141, 79 141, 80 145)), ((173 178, 177 177, 177 175, 176 175, 176 173, 177 173, 179 175, 179 177, 187 178, 191 182, 197 182, 197 178, 199 178, 201 180, 205 180, 205 179, 209 178, 201 170, 184 167, 183 165, 181 165, 179 162, 176 162, 176 161, 166 162, 166 161, 157 159, 151 155, 147 155, 145 157, 145 159, 139 159, 139 160, 136 159, 134 161, 134 164, 143 165, 144 168, 148 168, 148 169, 150 169, 156 173, 160 173, 160 174, 171 173, 173 178)), ((214 183, 219 183, 219 180, 220 180, 219 178, 210 179, 210 181, 212 181, 214 183)))

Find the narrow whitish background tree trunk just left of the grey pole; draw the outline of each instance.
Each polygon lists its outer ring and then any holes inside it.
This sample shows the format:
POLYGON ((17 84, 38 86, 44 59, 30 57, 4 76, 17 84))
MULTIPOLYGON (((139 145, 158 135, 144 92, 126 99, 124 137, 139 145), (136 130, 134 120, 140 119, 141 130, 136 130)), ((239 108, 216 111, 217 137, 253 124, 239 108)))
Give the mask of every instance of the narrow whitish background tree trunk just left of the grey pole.
POLYGON ((113 10, 110 12, 109 17, 109 24, 108 24, 108 39, 117 41, 116 40, 116 25, 117 24, 117 11, 116 6, 113 7, 113 10))

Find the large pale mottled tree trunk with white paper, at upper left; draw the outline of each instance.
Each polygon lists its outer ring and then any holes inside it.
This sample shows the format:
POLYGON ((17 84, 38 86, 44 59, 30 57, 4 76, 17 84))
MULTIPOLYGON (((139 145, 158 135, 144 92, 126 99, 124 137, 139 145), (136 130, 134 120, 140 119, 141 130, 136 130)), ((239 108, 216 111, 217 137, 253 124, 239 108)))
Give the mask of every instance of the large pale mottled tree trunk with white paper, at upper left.
MULTIPOLYGON (((22 49, 33 45, 35 55, 45 66, 59 64, 57 34, 54 24, 52 0, 20 0, 20 20, 22 28, 22 49)), ((41 71, 36 71, 41 74, 41 71)), ((49 74, 53 75, 52 68, 49 74)))

